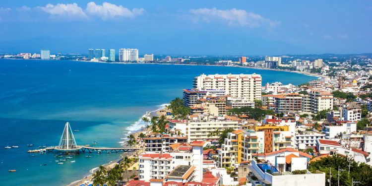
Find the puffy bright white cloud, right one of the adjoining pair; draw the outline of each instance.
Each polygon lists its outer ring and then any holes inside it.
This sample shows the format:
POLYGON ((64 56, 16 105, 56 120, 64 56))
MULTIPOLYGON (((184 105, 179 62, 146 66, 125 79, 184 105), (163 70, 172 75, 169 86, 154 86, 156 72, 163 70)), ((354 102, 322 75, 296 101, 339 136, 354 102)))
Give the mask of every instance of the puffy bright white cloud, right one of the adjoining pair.
POLYGON ((88 14, 97 15, 104 20, 115 16, 134 17, 136 15, 141 15, 143 11, 143 8, 133 8, 129 10, 122 5, 111 4, 109 2, 104 2, 102 5, 89 2, 86 8, 88 14))

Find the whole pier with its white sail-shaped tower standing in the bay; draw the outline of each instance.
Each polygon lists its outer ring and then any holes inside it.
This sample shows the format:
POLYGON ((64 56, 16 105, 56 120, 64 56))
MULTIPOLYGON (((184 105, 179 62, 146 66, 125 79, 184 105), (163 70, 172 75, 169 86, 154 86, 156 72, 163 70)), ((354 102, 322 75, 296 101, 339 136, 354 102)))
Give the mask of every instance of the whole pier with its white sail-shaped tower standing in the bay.
POLYGON ((72 133, 70 124, 66 122, 64 125, 64 129, 62 132, 61 140, 58 146, 50 146, 35 150, 29 150, 28 153, 34 152, 47 152, 47 151, 57 151, 57 152, 64 152, 64 153, 80 153, 81 152, 89 152, 89 153, 111 153, 111 152, 131 152, 141 150, 140 148, 127 148, 127 147, 90 147, 90 146, 83 146, 77 145, 75 141, 75 137, 72 133))

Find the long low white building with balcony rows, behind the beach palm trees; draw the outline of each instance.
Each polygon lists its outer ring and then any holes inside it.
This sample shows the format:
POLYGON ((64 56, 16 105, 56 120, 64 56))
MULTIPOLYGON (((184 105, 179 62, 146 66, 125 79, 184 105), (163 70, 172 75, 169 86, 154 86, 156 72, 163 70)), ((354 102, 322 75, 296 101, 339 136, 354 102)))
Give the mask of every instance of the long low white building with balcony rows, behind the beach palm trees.
MULTIPOLYGON (((223 118, 223 117, 222 117, 223 118)), ((202 121, 202 120, 195 120, 195 121, 178 121, 178 120, 168 120, 169 128, 171 130, 179 130, 181 133, 187 136, 187 141, 195 141, 195 140, 204 140, 207 139, 218 139, 219 136, 208 136, 210 131, 215 130, 225 130, 228 128, 232 128, 234 130, 239 128, 239 123, 235 121, 227 121, 227 120, 216 120, 216 121, 202 121)))

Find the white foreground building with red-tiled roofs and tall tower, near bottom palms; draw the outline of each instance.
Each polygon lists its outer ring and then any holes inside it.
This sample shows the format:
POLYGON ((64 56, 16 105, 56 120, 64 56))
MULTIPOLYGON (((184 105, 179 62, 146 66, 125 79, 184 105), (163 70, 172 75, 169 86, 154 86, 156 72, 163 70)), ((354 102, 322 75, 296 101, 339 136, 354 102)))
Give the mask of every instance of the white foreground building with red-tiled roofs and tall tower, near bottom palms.
POLYGON ((139 180, 151 179, 175 182, 201 182, 203 179, 203 141, 193 141, 190 146, 163 153, 139 156, 139 180), (181 173, 181 174, 180 174, 181 173))

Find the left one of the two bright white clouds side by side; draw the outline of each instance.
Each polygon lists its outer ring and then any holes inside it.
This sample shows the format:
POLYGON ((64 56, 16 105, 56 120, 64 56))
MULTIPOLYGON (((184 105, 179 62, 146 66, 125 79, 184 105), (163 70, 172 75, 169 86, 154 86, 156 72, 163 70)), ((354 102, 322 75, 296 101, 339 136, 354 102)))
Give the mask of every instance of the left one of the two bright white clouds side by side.
POLYGON ((87 15, 83 9, 76 3, 72 4, 62 4, 58 3, 56 5, 47 4, 46 6, 39 6, 43 11, 56 16, 68 16, 77 18, 87 18, 87 15))

